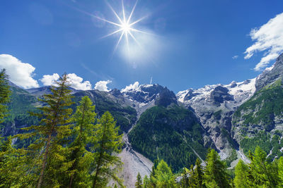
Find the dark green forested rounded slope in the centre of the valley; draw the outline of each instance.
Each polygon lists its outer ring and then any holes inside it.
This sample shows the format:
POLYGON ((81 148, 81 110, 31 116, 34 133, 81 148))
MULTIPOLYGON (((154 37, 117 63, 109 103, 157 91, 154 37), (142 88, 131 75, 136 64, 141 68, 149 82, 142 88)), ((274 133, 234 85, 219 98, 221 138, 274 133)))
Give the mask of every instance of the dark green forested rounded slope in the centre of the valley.
POLYGON ((162 158, 176 172, 195 162, 197 156, 192 149, 204 158, 202 133, 192 111, 179 106, 154 106, 141 114, 128 136, 135 150, 152 161, 162 158))

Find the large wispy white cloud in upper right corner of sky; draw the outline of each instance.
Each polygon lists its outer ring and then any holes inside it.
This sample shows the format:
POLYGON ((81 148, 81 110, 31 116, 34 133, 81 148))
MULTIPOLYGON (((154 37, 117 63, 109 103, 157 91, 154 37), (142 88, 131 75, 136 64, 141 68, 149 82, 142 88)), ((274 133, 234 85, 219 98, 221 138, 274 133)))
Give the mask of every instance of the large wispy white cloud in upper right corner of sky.
POLYGON ((270 61, 275 60, 283 52, 283 13, 270 19, 260 28, 251 30, 250 37, 255 43, 245 51, 245 58, 248 59, 258 51, 265 51, 254 70, 262 70, 270 61))

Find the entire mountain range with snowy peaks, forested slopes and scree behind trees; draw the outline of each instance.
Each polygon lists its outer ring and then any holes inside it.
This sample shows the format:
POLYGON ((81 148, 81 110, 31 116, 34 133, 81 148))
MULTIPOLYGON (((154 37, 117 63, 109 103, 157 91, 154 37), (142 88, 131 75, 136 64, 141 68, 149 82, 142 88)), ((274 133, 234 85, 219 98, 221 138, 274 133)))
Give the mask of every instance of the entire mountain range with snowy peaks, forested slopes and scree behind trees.
MULTIPOLYGON (((174 94, 159 84, 141 84, 132 89, 72 89, 76 108, 89 96, 102 115, 110 111, 124 133, 119 156, 124 163, 120 176, 132 187, 137 173, 149 175, 156 158, 163 158, 175 172, 201 160, 209 147, 219 152, 233 168, 248 152, 261 146, 273 160, 283 156, 283 54, 258 77, 243 82, 207 85, 174 94)), ((11 83, 11 114, 1 125, 4 136, 36 125, 28 111, 42 106, 38 97, 50 87, 22 89, 11 83)), ((14 142, 17 144, 17 142, 14 142)), ((23 144, 23 143, 22 143, 23 144)))

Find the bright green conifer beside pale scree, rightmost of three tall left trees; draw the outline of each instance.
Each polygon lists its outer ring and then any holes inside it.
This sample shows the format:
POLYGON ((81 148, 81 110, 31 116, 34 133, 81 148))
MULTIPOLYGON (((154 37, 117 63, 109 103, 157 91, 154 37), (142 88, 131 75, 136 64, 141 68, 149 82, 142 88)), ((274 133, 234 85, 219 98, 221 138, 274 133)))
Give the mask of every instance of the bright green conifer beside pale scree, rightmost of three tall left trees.
POLYGON ((117 168, 122 162, 119 157, 113 155, 121 151, 122 135, 118 134, 119 127, 115 127, 115 124, 112 115, 106 111, 96 125, 95 134, 98 142, 93 146, 96 152, 93 163, 95 167, 92 177, 93 188, 105 187, 110 177, 122 185, 116 175, 117 168))

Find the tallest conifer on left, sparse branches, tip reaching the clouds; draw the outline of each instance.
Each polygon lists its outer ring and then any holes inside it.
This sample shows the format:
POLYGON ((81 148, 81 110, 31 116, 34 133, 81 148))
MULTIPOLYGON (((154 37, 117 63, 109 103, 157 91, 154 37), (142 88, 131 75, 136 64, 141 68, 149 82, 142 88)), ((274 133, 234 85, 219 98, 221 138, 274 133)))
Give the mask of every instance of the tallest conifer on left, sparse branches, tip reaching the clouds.
POLYGON ((67 149, 63 147, 63 141, 71 133, 69 123, 72 109, 69 106, 73 104, 67 75, 60 77, 57 86, 52 86, 50 90, 51 94, 45 94, 43 99, 39 99, 45 104, 39 108, 42 113, 32 113, 41 119, 40 125, 27 127, 24 130, 28 130, 28 133, 18 135, 21 139, 39 136, 28 147, 28 151, 33 151, 29 155, 35 157, 35 166, 39 170, 37 188, 42 185, 57 186, 59 175, 71 165, 66 161, 67 149))

